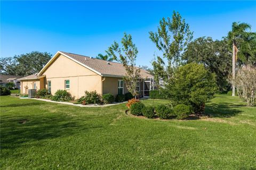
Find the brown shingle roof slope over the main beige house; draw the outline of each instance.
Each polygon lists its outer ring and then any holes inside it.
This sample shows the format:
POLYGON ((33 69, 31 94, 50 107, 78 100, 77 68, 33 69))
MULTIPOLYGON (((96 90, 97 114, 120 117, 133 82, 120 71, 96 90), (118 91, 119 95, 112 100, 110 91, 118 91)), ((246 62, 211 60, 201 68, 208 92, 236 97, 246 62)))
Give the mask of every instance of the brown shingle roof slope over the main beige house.
MULTIPOLYGON (((97 58, 90 58, 83 55, 73 54, 73 53, 67 53, 67 52, 61 52, 74 60, 90 67, 91 69, 101 73, 102 75, 109 75, 110 77, 123 77, 126 73, 125 68, 123 64, 117 63, 117 62, 108 62, 105 60, 100 60, 97 58)), ((141 77, 142 78, 153 78, 153 75, 151 75, 148 71, 141 69, 141 77)))

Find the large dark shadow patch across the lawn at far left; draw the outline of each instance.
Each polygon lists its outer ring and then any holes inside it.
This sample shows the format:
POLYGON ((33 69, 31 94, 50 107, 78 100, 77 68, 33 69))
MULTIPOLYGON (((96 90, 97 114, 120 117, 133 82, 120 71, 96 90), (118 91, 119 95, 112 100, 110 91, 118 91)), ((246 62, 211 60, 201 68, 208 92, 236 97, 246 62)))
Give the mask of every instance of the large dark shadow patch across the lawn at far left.
POLYGON ((102 128, 102 125, 81 124, 81 121, 62 114, 1 116, 1 149, 43 145, 43 140, 68 137, 95 128, 102 128), (36 142, 40 140, 42 142, 36 142))

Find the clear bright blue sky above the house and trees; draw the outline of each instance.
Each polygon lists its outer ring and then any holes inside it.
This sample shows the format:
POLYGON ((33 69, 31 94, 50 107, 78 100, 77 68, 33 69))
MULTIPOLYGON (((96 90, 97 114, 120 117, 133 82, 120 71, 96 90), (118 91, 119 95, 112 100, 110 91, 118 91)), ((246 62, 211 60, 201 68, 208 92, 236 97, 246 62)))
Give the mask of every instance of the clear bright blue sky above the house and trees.
POLYGON ((123 33, 137 45, 137 65, 161 54, 149 39, 159 20, 178 11, 194 38, 221 39, 234 21, 256 30, 256 1, 1 1, 1 57, 58 50, 95 57, 123 33))

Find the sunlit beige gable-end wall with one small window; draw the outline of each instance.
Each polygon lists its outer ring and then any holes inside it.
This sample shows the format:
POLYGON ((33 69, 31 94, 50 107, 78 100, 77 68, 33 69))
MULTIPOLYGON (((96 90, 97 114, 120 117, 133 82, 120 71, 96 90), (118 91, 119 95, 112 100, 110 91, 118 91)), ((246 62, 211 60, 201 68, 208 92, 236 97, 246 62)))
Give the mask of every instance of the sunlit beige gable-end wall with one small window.
POLYGON ((84 96, 85 90, 96 90, 102 94, 101 76, 63 55, 58 56, 42 75, 46 75, 46 88, 47 81, 51 81, 53 95, 57 90, 65 89, 65 80, 70 83, 70 88, 66 90, 75 98, 84 96))

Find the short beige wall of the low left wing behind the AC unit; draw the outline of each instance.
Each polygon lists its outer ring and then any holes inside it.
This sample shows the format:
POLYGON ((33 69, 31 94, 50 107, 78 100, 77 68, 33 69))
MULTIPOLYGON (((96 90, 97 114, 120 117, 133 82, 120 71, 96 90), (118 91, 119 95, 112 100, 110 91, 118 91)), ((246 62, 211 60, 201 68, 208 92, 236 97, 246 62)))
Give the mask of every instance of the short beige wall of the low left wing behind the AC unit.
POLYGON ((33 82, 36 82, 36 90, 44 89, 44 78, 41 78, 40 80, 22 80, 21 81, 21 94, 28 94, 28 89, 34 89, 33 82))

